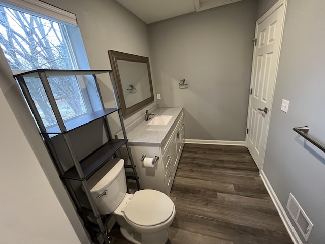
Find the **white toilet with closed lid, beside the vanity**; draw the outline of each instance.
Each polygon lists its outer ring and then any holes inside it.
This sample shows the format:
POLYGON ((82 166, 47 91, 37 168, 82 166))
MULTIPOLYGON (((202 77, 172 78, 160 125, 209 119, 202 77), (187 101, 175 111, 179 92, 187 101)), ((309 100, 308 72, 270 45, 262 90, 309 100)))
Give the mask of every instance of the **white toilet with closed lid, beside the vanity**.
POLYGON ((127 193, 123 159, 111 159, 87 180, 100 214, 113 213, 122 235, 135 244, 164 244, 175 205, 164 193, 145 189, 127 193))

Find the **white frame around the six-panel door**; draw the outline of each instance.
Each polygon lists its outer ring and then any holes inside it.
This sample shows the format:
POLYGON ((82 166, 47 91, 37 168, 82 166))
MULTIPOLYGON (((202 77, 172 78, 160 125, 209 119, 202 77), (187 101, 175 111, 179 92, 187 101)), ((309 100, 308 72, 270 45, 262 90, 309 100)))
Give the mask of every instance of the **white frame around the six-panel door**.
MULTIPOLYGON (((274 77, 274 84, 272 87, 272 95, 271 95, 271 104, 270 104, 270 109, 269 109, 269 118, 267 121, 267 130, 266 130, 266 135, 265 135, 265 143, 264 143, 264 151, 263 151, 263 155, 262 155, 262 164, 261 164, 261 169, 259 169, 259 171, 262 171, 263 169, 263 165, 264 165, 264 157, 265 157, 265 151, 266 151, 266 145, 267 145, 267 140, 268 140, 268 134, 269 134, 269 126, 270 126, 270 120, 271 120, 271 113, 272 113, 272 106, 273 106, 273 97, 274 97, 274 91, 275 91, 275 84, 276 84, 276 80, 277 80, 277 76, 278 76, 278 67, 279 67, 279 60, 280 60, 280 55, 281 55, 281 46, 282 46, 282 37, 283 37, 283 31, 284 31, 284 23, 285 23, 285 14, 286 14, 286 7, 287 7, 287 0, 279 0, 278 2, 276 2, 264 15, 262 15, 261 18, 259 18, 256 21, 256 26, 255 26, 255 36, 254 38, 257 38, 257 29, 258 29, 258 25, 260 23, 262 23, 269 15, 271 15, 275 10, 277 10, 281 5, 283 5, 284 10, 283 10, 283 23, 282 23, 282 30, 281 30, 281 36, 280 36, 280 45, 279 45, 279 54, 278 54, 278 58, 277 58, 277 62, 276 62, 276 72, 275 72, 275 77, 274 77)), ((254 77, 254 67, 255 67, 255 63, 256 63, 256 58, 255 58, 255 53, 256 53, 256 49, 257 46, 254 46, 254 51, 253 51, 253 63, 252 63, 252 72, 251 72, 251 78, 250 78, 250 89, 252 89, 253 86, 253 77, 254 77)), ((246 124, 246 128, 248 129, 248 125, 249 125, 249 119, 250 119, 250 106, 251 106, 251 98, 252 96, 249 95, 249 103, 248 103, 248 113, 247 113, 247 124, 246 124)), ((247 147, 248 144, 248 134, 246 133, 246 137, 245 137, 245 146, 247 147)))

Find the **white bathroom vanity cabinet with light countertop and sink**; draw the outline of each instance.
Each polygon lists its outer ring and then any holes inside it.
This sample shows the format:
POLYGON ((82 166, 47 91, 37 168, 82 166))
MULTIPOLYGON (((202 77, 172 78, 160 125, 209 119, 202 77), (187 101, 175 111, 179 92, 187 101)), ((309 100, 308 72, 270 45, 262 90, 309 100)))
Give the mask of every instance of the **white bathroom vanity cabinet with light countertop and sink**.
POLYGON ((183 108, 158 108, 149 121, 144 116, 126 127, 128 144, 139 176, 141 189, 155 189, 169 195, 185 143, 183 108), (145 167, 142 155, 159 159, 145 167))

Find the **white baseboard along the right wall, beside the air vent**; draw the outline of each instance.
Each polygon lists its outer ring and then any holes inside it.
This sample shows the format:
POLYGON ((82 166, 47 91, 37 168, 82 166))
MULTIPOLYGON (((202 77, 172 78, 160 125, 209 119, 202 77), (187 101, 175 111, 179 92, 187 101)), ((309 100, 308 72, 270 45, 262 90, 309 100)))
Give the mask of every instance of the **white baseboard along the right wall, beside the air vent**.
POLYGON ((288 231, 288 233, 291 237, 291 240, 294 242, 294 244, 303 244, 303 242, 299 238, 297 231, 295 230, 294 226, 291 224, 289 217, 287 216, 284 208, 282 207, 278 197, 276 196, 268 178, 264 174, 263 170, 261 170, 259 173, 260 173, 259 176, 261 177, 261 179, 264 183, 264 186, 266 187, 266 189, 267 189, 267 191, 276 207, 276 210, 278 210, 280 218, 281 218, 286 230, 288 231))

